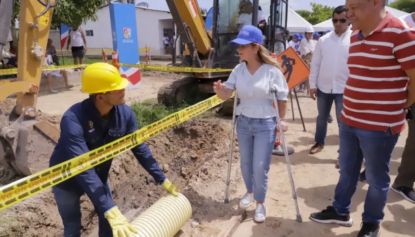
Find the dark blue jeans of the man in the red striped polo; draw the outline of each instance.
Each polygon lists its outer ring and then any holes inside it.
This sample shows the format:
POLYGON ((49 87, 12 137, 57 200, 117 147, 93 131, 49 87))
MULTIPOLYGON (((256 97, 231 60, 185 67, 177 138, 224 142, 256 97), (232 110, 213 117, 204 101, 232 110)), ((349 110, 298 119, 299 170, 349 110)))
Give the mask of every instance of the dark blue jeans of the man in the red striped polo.
POLYGON ((366 161, 366 194, 363 222, 380 223, 389 193, 389 162, 399 133, 370 131, 340 125, 340 177, 334 191, 333 207, 338 215, 347 215, 356 192, 363 158, 366 161))

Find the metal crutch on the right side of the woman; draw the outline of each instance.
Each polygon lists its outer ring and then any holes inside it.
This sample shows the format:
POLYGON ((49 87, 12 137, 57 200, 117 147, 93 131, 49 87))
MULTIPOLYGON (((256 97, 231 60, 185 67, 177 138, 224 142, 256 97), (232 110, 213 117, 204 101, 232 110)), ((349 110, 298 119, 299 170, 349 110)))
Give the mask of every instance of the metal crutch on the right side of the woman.
POLYGON ((283 131, 283 127, 281 126, 281 123, 279 122, 280 121, 280 113, 278 111, 278 103, 277 103, 276 93, 277 93, 277 90, 275 89, 275 87, 272 86, 271 87, 271 94, 272 94, 272 97, 274 98, 275 111, 277 112, 277 125, 280 129, 280 132, 281 132, 281 140, 283 142, 284 154, 285 154, 286 162, 287 162, 288 175, 290 176, 292 198, 294 199, 295 211, 297 212, 297 214, 296 214, 297 215, 297 222, 302 222, 300 209, 298 208, 297 193, 295 192, 295 187, 294 187, 294 179, 292 178, 290 157, 288 155, 288 150, 287 150, 287 141, 285 139, 285 133, 283 131))

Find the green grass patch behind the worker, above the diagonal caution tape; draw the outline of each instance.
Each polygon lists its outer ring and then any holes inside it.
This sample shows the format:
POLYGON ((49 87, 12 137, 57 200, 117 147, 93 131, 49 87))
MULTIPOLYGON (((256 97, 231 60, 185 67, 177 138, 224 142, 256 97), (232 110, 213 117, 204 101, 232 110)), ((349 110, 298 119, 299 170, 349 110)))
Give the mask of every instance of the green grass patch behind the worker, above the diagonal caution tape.
POLYGON ((131 109, 137 117, 137 125, 140 128, 153 122, 157 122, 188 106, 189 105, 183 103, 174 107, 166 107, 157 103, 157 99, 150 99, 132 104, 131 109))

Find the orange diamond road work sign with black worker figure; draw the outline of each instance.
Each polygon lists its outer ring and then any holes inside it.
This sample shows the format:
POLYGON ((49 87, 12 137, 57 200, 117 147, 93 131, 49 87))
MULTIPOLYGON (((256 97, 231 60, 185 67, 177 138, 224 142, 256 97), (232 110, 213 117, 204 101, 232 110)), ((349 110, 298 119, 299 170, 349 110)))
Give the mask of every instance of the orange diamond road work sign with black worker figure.
POLYGON ((277 61, 281 64, 289 90, 301 84, 310 75, 310 69, 292 47, 280 53, 277 56, 277 61))

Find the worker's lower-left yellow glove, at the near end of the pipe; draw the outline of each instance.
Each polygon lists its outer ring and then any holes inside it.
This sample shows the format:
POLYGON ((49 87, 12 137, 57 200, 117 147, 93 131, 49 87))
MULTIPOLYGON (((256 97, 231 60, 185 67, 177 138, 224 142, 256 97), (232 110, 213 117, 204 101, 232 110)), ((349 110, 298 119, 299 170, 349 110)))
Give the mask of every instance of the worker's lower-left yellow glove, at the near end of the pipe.
POLYGON ((132 233, 138 234, 138 231, 128 223, 127 218, 121 214, 117 206, 107 211, 104 216, 113 229, 114 237, 133 237, 132 233))

